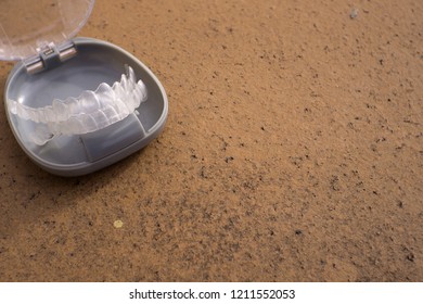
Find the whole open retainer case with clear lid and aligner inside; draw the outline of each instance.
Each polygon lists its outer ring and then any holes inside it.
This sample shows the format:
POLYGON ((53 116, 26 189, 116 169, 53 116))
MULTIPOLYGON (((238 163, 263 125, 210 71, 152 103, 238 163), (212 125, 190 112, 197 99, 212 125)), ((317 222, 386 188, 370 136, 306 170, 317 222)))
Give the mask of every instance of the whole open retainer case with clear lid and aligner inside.
POLYGON ((85 175, 159 135, 168 101, 155 75, 117 46, 70 39, 86 23, 93 1, 5 2, 8 15, 21 5, 26 16, 20 28, 20 21, 8 21, 0 12, 0 59, 21 60, 7 80, 5 113, 17 142, 36 164, 55 175, 85 175), (35 12, 36 18, 27 17, 35 12))

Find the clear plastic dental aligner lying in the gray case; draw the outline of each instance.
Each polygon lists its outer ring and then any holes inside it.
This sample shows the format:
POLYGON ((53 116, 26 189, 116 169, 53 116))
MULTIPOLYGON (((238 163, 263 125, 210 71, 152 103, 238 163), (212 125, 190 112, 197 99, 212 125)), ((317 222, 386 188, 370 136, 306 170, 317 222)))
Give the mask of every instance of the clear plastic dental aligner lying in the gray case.
POLYGON ((54 99, 52 105, 38 109, 9 99, 9 111, 36 123, 29 138, 39 145, 55 136, 100 130, 124 119, 148 99, 144 83, 137 81, 130 66, 126 68, 127 73, 121 75, 120 81, 112 87, 102 83, 95 91, 86 90, 78 98, 69 97, 64 101, 54 99))

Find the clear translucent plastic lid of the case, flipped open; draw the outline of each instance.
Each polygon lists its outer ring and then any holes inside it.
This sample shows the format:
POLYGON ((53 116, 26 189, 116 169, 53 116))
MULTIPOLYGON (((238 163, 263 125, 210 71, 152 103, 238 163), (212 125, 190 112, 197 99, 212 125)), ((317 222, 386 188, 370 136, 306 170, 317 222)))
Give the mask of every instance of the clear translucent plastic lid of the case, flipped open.
POLYGON ((0 60, 23 60, 60 46, 86 24, 94 0, 0 1, 0 60))

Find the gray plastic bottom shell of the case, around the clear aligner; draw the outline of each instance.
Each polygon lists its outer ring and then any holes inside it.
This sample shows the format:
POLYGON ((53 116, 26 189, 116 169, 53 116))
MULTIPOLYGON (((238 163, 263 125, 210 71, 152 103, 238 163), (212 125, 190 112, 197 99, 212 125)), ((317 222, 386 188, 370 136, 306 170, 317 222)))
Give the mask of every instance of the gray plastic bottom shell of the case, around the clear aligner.
POLYGON ((50 105, 53 99, 77 97, 101 83, 113 85, 125 74, 126 64, 145 84, 149 97, 118 123, 90 134, 59 136, 44 145, 27 140, 34 123, 10 113, 5 103, 9 124, 22 149, 40 167, 60 176, 89 174, 142 149, 163 130, 168 112, 165 89, 137 58, 105 41, 73 41, 77 55, 55 67, 30 75, 22 62, 16 64, 7 80, 4 100, 18 100, 31 107, 50 105))

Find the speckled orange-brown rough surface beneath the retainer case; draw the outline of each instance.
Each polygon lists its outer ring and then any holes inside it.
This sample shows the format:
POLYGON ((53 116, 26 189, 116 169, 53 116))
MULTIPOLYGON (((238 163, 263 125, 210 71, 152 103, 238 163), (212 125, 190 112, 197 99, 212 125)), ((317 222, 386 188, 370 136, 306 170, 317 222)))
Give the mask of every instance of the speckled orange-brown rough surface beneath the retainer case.
POLYGON ((80 36, 150 66, 168 123, 66 179, 29 161, 1 106, 0 280, 422 281, 422 15, 418 0, 98 1, 80 36))

